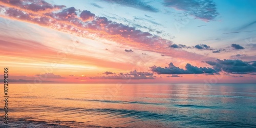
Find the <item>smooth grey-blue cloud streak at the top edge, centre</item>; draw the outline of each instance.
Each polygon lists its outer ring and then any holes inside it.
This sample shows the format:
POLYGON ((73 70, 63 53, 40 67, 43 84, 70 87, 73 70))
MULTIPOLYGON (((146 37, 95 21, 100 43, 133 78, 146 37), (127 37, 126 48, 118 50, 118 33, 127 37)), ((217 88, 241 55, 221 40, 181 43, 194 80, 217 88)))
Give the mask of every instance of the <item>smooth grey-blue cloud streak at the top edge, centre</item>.
POLYGON ((143 2, 141 0, 130 0, 130 1, 126 1, 126 0, 103 0, 103 1, 120 4, 122 6, 133 7, 133 8, 137 8, 137 9, 144 10, 144 11, 159 12, 159 10, 157 8, 154 8, 153 6, 148 5, 146 2, 143 2))

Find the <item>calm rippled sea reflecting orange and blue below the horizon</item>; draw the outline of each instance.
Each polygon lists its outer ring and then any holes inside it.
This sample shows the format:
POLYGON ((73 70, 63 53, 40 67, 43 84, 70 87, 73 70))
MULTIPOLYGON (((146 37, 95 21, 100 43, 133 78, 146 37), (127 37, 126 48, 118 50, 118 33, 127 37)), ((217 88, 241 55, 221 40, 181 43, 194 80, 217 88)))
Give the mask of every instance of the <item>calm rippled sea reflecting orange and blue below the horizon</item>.
POLYGON ((256 85, 10 84, 8 114, 1 127, 256 127, 256 85))

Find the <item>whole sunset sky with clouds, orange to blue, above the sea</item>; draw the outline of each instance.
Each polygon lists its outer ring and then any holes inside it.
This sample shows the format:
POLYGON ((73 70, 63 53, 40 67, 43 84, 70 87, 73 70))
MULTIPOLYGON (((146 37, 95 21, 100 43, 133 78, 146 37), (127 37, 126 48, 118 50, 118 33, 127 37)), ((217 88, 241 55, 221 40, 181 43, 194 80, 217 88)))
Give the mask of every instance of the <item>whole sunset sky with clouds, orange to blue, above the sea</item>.
POLYGON ((0 66, 13 83, 256 83, 255 7, 1 0, 0 66))

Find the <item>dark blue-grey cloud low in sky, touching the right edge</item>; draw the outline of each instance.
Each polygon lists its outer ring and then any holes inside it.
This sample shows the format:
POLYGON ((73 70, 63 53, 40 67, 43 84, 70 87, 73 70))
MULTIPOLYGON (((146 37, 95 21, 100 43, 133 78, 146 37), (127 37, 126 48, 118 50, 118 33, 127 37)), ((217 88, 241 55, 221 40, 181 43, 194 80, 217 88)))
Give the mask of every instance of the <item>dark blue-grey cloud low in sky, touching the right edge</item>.
POLYGON ((224 71, 234 74, 246 74, 256 72, 255 62, 245 62, 242 60, 217 59, 216 61, 206 61, 209 65, 213 66, 216 71, 224 71), (252 64, 250 64, 252 63, 252 64))

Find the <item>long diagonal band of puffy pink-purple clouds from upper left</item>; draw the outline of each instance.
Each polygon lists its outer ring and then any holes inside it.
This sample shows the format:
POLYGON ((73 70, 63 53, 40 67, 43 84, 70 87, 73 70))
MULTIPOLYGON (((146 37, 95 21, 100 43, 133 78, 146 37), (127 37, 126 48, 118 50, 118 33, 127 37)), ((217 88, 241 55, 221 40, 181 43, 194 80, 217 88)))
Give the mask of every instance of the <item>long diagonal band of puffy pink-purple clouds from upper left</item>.
POLYGON ((97 37, 136 47, 140 50, 153 51, 187 60, 194 60, 194 58, 212 59, 184 50, 169 49, 169 45, 172 44, 171 40, 143 32, 135 27, 113 22, 106 17, 95 16, 87 10, 80 13, 74 7, 65 8, 65 6, 51 5, 45 1, 32 0, 15 2, 6 0, 0 4, 4 6, 6 9, 4 13, 9 17, 68 33, 76 33, 82 37, 92 38, 90 34, 94 34, 97 37))

